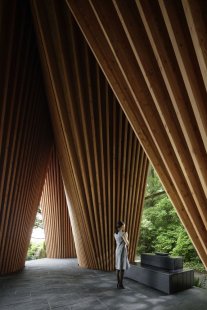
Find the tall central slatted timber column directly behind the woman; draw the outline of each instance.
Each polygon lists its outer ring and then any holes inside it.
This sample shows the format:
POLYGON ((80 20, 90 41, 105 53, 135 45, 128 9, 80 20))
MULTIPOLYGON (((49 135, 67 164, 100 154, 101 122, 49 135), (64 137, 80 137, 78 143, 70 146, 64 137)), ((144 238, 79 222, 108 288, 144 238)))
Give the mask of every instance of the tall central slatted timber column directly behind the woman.
POLYGON ((113 270, 120 218, 134 260, 148 160, 65 1, 32 9, 79 264, 113 270))

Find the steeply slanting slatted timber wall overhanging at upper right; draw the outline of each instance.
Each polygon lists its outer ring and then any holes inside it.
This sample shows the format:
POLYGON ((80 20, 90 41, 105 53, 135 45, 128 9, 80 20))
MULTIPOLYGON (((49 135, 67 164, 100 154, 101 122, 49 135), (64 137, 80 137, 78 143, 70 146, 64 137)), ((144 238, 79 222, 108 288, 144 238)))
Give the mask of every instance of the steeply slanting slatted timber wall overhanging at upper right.
POLYGON ((67 3, 207 267, 206 1, 67 3))

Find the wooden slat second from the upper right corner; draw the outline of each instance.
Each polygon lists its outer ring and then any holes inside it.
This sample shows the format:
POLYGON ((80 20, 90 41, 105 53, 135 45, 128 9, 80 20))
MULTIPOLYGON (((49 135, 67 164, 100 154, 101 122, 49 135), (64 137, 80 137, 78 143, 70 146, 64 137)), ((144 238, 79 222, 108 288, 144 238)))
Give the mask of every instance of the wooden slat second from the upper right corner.
MULTIPOLYGON (((198 66, 197 58, 186 20, 183 18, 184 12, 182 11, 182 5, 180 3, 173 4, 172 1, 159 1, 159 5, 182 74, 183 82, 185 83, 185 88, 199 126, 200 135, 203 141, 206 142, 206 91, 203 89, 204 84, 200 76, 200 70, 196 68, 198 66)), ((207 150, 206 143, 204 146, 207 150)))

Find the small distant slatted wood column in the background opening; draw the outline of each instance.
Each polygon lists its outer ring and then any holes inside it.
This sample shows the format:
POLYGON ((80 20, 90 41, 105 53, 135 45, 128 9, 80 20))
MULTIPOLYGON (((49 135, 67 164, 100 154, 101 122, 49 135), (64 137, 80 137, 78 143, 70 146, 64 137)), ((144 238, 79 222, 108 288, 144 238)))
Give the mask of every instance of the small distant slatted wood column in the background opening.
POLYGON ((48 258, 76 257, 69 211, 56 150, 53 148, 40 200, 48 258))

